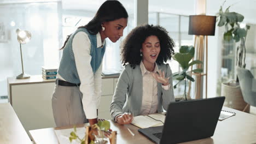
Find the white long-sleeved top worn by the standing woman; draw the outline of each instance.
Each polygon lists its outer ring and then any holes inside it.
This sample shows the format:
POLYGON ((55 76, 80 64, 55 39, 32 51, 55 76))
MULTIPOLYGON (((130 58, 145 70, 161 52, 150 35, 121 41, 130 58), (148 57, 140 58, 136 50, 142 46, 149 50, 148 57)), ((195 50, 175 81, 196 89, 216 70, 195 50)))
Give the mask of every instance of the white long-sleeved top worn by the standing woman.
MULTIPOLYGON (((103 47, 105 40, 101 41, 100 33, 96 34, 97 47, 103 47)), ((74 35, 72 49, 74 52, 75 65, 81 82, 80 92, 83 94, 83 109, 85 116, 88 119, 97 118, 98 105, 101 98, 101 73, 102 63, 96 73, 94 74, 91 68, 91 42, 88 34, 85 32, 78 32, 74 35)), ((59 74, 57 77, 63 79, 59 74)))

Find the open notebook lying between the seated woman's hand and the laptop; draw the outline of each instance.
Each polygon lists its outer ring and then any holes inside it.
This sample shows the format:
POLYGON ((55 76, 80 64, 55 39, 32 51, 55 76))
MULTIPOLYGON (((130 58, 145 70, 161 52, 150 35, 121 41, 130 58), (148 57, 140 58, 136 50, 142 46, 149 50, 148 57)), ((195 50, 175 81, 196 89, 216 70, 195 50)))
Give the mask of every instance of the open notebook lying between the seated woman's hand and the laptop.
POLYGON ((161 113, 154 113, 146 116, 133 117, 131 124, 139 128, 149 128, 164 125, 165 115, 161 113))

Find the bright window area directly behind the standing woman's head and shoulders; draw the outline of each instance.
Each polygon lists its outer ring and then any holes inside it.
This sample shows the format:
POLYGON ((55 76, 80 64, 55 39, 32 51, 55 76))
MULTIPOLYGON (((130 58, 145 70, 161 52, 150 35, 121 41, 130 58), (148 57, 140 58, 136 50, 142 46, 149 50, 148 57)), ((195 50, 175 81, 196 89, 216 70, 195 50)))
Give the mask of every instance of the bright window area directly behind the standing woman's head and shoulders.
MULTIPOLYGON (((100 3, 94 5, 95 9, 90 10, 63 10, 62 16, 62 29, 63 29, 63 41, 66 40, 67 35, 73 33, 79 26, 86 25, 96 14, 100 3)), ((103 58, 103 71, 104 70, 117 70, 121 71, 123 66, 121 65, 120 57, 120 44, 126 35, 134 28, 133 26, 133 11, 131 3, 123 3, 129 15, 127 27, 124 29, 123 37, 121 37, 116 43, 112 43, 108 38, 106 39, 106 51, 103 58)))

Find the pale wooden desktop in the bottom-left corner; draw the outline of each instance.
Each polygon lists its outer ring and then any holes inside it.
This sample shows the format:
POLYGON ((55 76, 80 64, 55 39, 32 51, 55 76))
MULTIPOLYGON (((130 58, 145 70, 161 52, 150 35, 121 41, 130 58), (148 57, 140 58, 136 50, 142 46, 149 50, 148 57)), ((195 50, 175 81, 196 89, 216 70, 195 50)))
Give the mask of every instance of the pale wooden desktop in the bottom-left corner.
POLYGON ((0 143, 32 143, 10 103, 0 104, 0 143))

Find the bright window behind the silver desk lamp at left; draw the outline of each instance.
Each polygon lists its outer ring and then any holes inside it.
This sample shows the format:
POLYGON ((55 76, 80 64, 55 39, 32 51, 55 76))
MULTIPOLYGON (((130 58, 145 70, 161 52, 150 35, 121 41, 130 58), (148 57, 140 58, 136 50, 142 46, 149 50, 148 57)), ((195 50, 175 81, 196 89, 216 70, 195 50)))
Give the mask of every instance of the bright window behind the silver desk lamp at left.
POLYGON ((0 96, 7 95, 7 77, 22 73, 20 48, 16 29, 32 34, 31 41, 22 44, 26 74, 42 74, 43 65, 59 63, 61 2, 0 3, 0 96))

